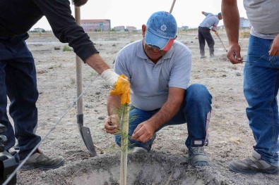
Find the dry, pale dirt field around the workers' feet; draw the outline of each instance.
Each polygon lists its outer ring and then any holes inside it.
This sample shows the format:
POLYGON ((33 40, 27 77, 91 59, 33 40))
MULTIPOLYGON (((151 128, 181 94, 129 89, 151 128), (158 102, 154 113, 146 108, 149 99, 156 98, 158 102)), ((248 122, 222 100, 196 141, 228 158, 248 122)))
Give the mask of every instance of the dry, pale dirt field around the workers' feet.
MULTIPOLYGON (((119 49, 141 39, 141 33, 89 35, 110 66, 119 49)), ((189 165, 184 146, 186 125, 165 127, 158 132, 148 155, 129 153, 128 184, 279 184, 278 175, 245 175, 228 170, 230 160, 251 155, 254 139, 242 93, 244 65, 232 65, 218 37, 213 34, 213 38, 218 58, 201 59, 196 30, 180 32, 177 37, 193 53, 191 84, 205 84, 213 96, 210 143, 206 147, 211 166, 189 165)), ((227 46, 225 31, 220 31, 220 38, 227 46)), ((37 66, 40 92, 37 134, 44 139, 40 148, 47 155, 62 155, 66 163, 56 170, 20 171, 18 184, 119 184, 120 149, 114 143, 114 136, 102 130, 109 87, 100 75, 83 65, 83 89, 87 89, 83 96, 84 125, 90 128, 97 151, 97 156, 92 157, 76 124, 75 53, 62 51, 67 44, 60 43, 52 33, 31 33, 27 42, 37 66)), ((240 44, 245 56, 248 39, 240 39, 240 44)), ((206 55, 209 56, 207 46, 206 55)))

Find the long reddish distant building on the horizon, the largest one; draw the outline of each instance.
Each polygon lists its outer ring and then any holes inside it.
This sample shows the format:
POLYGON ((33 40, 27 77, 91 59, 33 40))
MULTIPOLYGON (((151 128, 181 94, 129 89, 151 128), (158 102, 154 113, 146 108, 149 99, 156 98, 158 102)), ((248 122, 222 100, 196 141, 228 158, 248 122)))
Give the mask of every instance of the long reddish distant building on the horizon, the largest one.
POLYGON ((81 27, 85 32, 103 32, 110 30, 109 19, 81 20, 81 27))

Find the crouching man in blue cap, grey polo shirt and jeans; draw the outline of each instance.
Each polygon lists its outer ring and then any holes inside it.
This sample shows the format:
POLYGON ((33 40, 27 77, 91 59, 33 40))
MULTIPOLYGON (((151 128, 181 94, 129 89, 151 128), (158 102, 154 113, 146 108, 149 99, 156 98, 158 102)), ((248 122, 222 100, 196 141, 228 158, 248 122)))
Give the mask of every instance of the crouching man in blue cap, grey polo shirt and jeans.
MULTIPOLYGON (((129 143, 135 153, 148 153, 156 132, 168 125, 186 123, 189 160, 194 166, 207 166, 204 152, 208 144, 211 98, 202 84, 191 84, 192 55, 187 46, 174 41, 177 23, 165 11, 153 13, 142 25, 143 39, 119 51, 114 70, 131 83, 129 143)), ((119 96, 109 95, 105 130, 117 134, 119 96)), ((185 127, 186 127, 185 124, 185 127)), ((121 145, 121 136, 116 135, 121 145)))

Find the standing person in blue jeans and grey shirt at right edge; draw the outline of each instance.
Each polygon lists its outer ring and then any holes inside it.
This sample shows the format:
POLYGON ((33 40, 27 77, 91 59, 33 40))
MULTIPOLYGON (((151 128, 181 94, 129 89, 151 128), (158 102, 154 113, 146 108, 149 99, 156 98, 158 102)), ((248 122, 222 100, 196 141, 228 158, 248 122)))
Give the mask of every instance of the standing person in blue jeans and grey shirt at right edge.
MULTIPOLYGON (((244 65, 244 96, 249 126, 256 143, 251 158, 230 162, 230 170, 245 174, 279 173, 279 2, 247 1, 244 8, 252 25, 244 65)), ((227 58, 242 63, 237 0, 223 0, 222 13, 229 39, 227 58)))

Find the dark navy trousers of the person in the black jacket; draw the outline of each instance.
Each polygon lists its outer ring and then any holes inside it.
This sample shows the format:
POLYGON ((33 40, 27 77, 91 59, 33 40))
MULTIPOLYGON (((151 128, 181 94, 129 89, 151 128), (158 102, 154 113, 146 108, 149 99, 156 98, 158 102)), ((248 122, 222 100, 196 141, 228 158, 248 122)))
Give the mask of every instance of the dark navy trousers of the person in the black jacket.
POLYGON ((40 142, 40 136, 35 134, 38 98, 35 63, 25 39, 28 34, 0 37, 0 123, 7 128, 6 151, 18 139, 15 149, 19 150, 20 160, 40 142), (14 131, 7 116, 7 95, 14 131))

